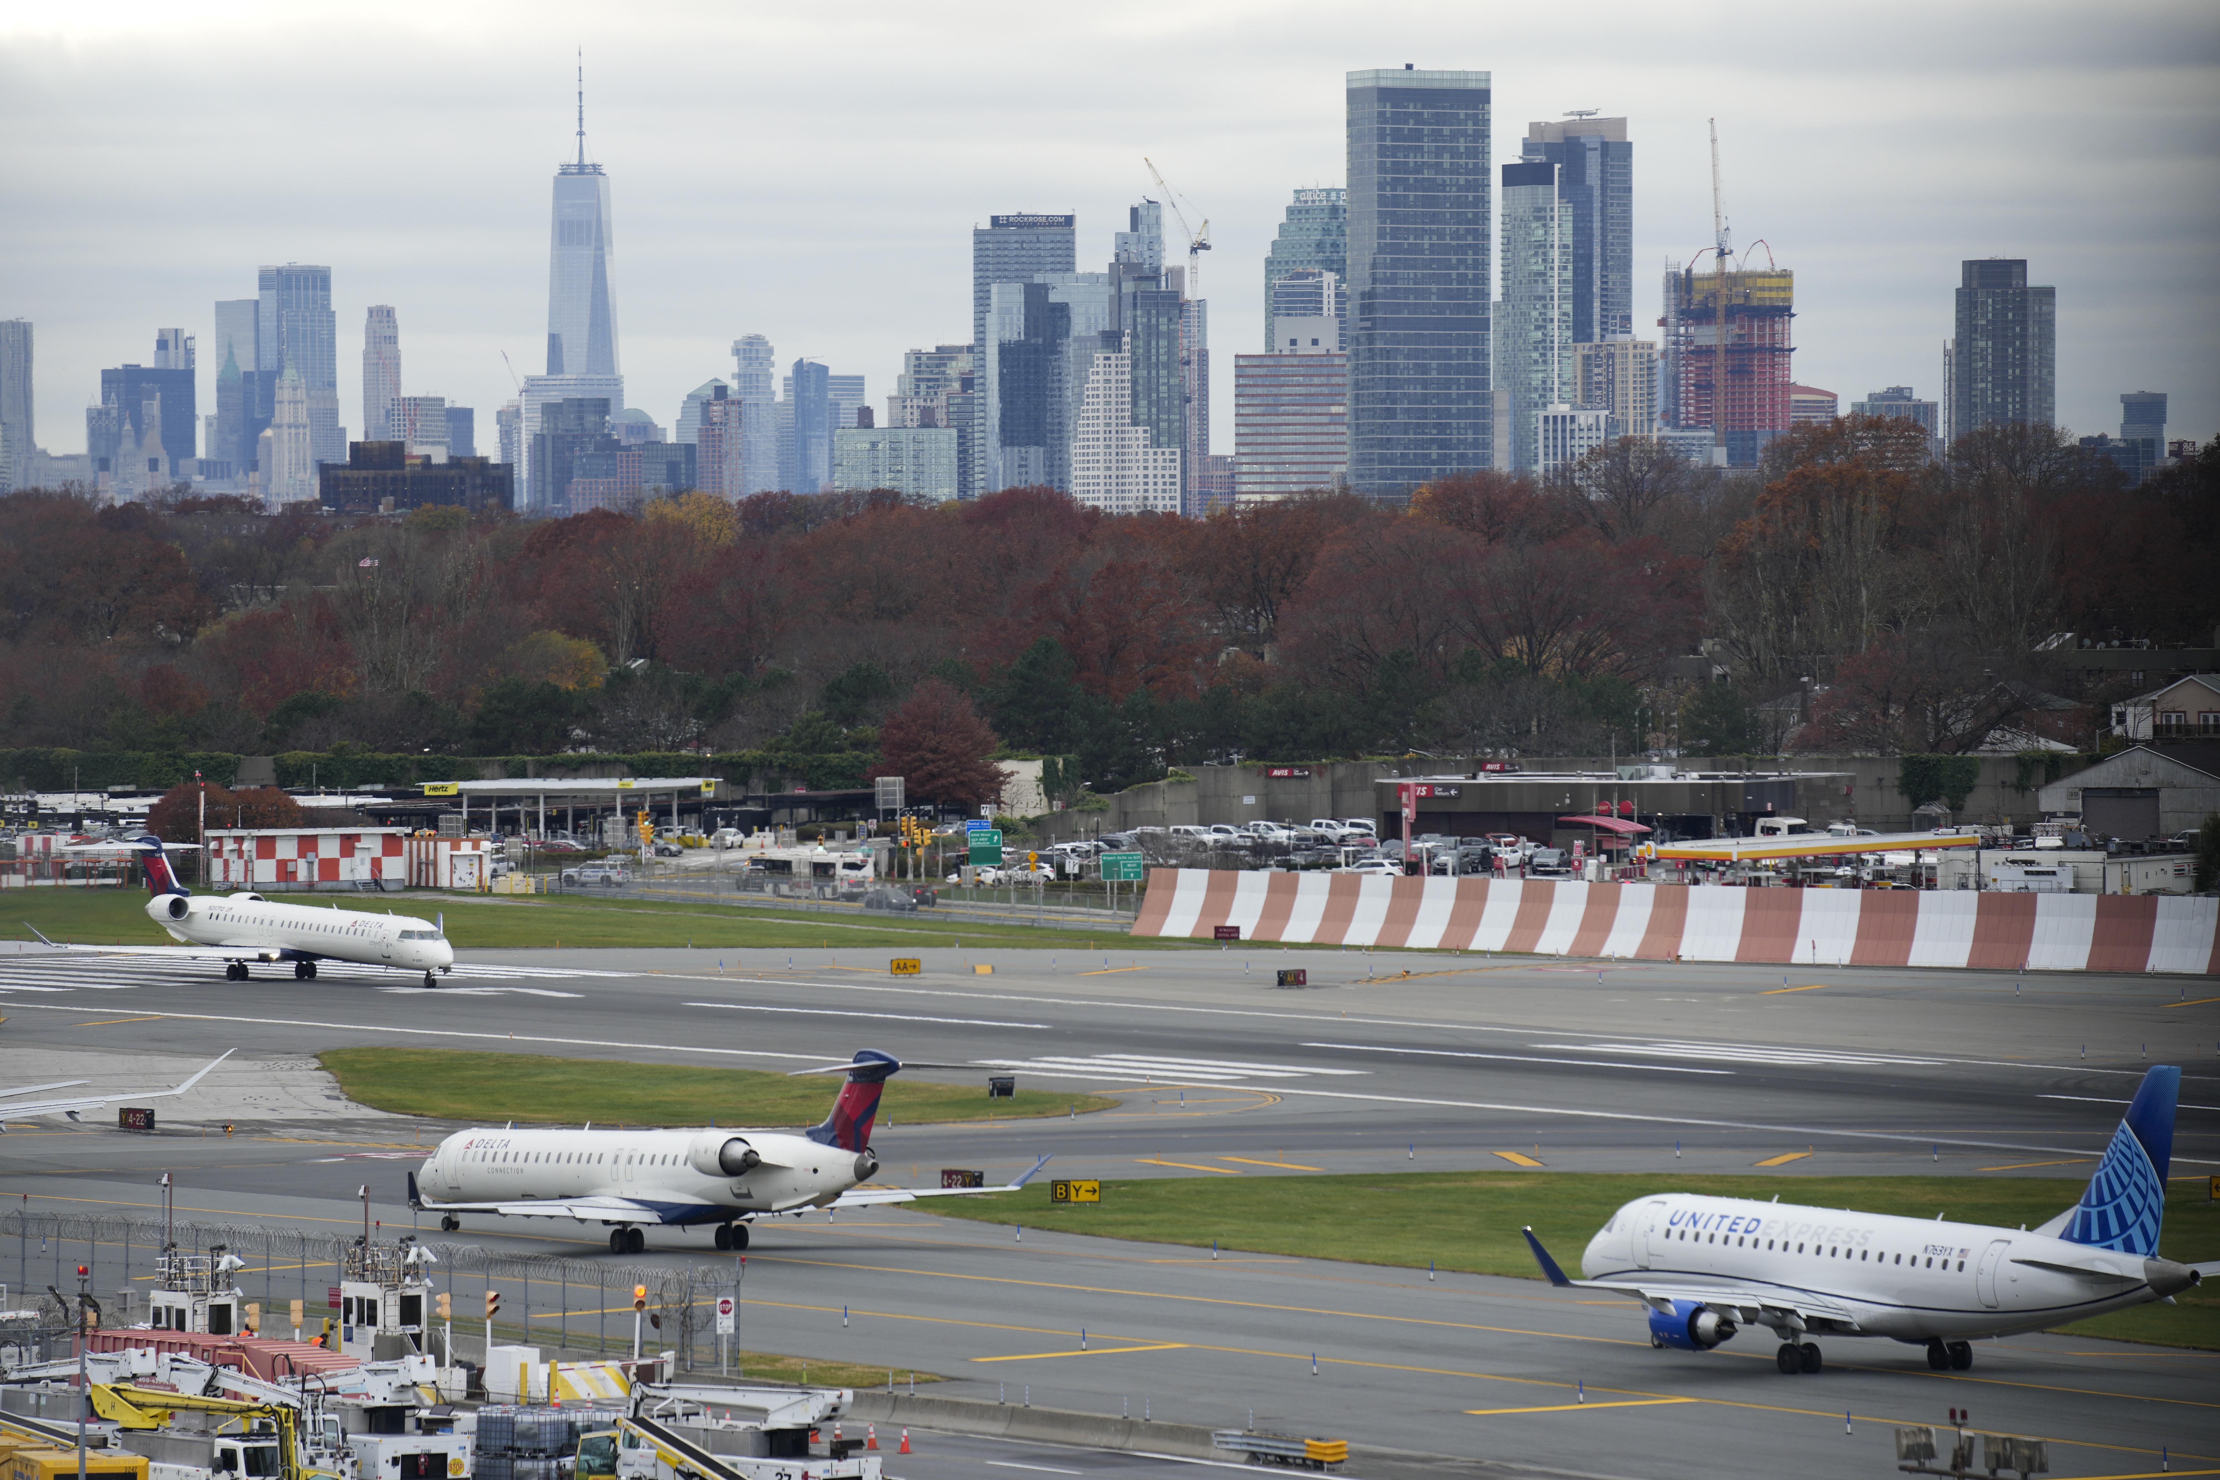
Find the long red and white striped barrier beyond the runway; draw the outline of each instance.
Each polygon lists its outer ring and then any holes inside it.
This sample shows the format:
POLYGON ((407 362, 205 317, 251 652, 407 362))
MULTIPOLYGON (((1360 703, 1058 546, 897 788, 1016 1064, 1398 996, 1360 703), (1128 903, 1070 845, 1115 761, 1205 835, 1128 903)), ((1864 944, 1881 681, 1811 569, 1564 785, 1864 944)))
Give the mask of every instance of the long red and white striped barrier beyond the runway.
POLYGON ((2182 894, 1743 890, 1152 868, 1137 936, 1645 961, 2220 972, 2220 901, 2182 894))

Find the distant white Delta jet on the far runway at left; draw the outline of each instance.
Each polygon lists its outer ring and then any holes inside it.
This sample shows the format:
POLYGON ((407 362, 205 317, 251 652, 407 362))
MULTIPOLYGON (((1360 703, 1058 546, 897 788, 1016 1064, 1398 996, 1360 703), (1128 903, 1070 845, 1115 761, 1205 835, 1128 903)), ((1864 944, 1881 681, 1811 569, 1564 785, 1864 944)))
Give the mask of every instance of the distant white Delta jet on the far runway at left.
POLYGON ((249 961, 291 961, 297 981, 315 981, 317 961, 351 961, 402 972, 424 972, 424 985, 455 970, 455 947, 446 943, 446 921, 406 914, 364 914, 337 905, 280 905, 260 894, 193 894, 178 883, 178 870, 162 852, 162 839, 142 832, 131 839, 147 865, 147 919, 184 945, 60 945, 38 925, 31 934, 58 950, 89 950, 102 956, 182 956, 224 961, 226 981, 246 981, 249 961))

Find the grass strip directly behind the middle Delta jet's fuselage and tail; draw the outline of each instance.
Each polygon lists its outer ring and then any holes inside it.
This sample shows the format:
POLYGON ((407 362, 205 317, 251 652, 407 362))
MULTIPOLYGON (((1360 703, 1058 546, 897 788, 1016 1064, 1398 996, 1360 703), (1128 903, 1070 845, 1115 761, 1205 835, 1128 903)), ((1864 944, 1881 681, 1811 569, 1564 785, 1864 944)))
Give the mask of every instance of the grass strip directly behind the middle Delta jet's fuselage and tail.
MULTIPOLYGON (((841 1083, 837 1074, 790 1078, 761 1070, 417 1047, 342 1047, 317 1058, 357 1105, 440 1121, 817 1125, 833 1109, 841 1083)), ((879 1098, 879 1123, 1028 1121, 1112 1103, 1048 1089, 1019 1089, 1015 1098, 990 1101, 986 1085, 928 1085, 895 1076, 879 1098)))

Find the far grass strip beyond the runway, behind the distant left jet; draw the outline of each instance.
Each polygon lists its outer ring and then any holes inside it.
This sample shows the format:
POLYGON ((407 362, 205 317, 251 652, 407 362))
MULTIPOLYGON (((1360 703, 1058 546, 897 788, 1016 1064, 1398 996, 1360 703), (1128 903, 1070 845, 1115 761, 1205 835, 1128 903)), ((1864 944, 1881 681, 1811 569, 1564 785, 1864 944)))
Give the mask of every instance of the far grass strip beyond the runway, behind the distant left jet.
MULTIPOLYGON (((781 912, 715 903, 593 899, 575 894, 484 896, 415 890, 408 894, 280 894, 286 903, 337 903, 342 910, 393 910, 431 919, 446 916, 446 936, 460 950, 495 947, 670 947, 699 950, 919 950, 941 945, 1086 950, 1090 943, 1130 950, 1166 950, 1190 941, 1126 939, 1126 927, 1048 930, 1035 925, 972 925, 935 921, 930 914, 868 916, 781 912)), ((147 894, 138 890, 9 890, 0 899, 0 941, 36 939, 38 925, 56 941, 80 945, 173 945, 147 919, 147 894)))

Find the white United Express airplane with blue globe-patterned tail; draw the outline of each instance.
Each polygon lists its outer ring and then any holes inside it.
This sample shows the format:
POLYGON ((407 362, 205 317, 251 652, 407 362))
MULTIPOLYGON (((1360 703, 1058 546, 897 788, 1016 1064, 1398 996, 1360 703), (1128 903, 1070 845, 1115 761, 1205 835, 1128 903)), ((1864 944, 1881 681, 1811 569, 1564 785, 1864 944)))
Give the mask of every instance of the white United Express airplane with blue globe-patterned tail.
POLYGON ((1783 1373, 1820 1369, 1812 1336, 1885 1336, 1965 1371, 1976 1338, 2171 1300, 2220 1274, 2158 1258, 2180 1083, 2169 1065, 2142 1076, 2080 1203, 2036 1229, 1669 1192, 1612 1214, 1581 1280, 1525 1238, 1552 1285, 1645 1302, 1652 1347, 1709 1351, 1758 1325, 1780 1336, 1783 1373))

